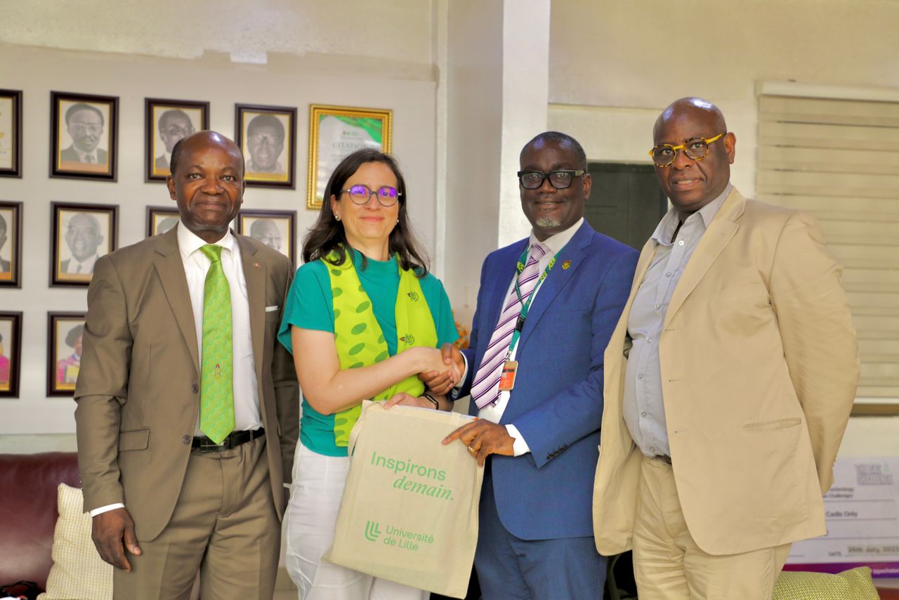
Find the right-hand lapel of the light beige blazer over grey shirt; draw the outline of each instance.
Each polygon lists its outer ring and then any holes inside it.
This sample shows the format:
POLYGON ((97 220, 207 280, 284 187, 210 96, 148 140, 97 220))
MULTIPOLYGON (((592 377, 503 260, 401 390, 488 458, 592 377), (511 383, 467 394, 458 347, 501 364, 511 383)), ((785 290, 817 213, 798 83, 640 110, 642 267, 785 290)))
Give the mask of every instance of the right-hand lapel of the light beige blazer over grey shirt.
POLYGON ((690 256, 690 261, 681 275, 681 281, 674 288, 671 303, 665 313, 663 328, 668 327, 684 300, 687 300, 690 292, 702 281, 708 268, 715 263, 715 259, 727 246, 727 242, 734 237, 739 227, 734 221, 743 214, 745 206, 746 199, 734 188, 721 206, 721 210, 718 210, 715 219, 712 219, 708 231, 699 240, 699 246, 696 246, 696 250, 690 256))

